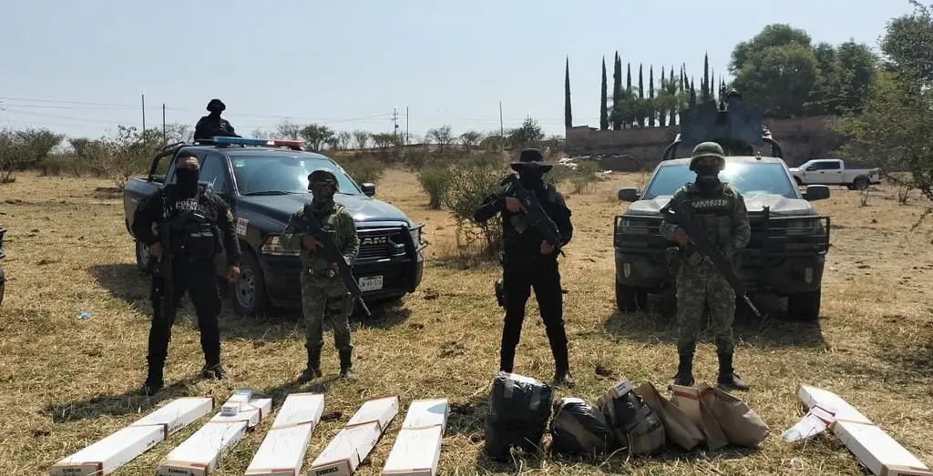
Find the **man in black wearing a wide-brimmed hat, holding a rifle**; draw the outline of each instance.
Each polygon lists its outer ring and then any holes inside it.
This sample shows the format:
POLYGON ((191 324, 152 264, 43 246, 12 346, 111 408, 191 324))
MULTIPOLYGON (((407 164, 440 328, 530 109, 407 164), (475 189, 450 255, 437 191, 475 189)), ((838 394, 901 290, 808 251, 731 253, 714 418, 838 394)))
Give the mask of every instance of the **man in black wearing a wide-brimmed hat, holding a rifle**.
MULTIPOLYGON (((553 185, 544 184, 544 174, 553 166, 544 161, 537 149, 525 149, 518 162, 511 164, 519 172, 519 181, 535 193, 542 208, 557 224, 561 236, 560 247, 564 247, 573 235, 570 210, 553 185)), ((567 337, 564 332, 564 302, 561 289, 561 274, 557 265, 558 249, 550 246, 540 231, 529 226, 519 233, 512 222, 522 215, 522 202, 514 197, 511 185, 497 190, 486 198, 474 213, 474 220, 483 223, 495 213, 502 212, 502 279, 505 294, 505 325, 502 329, 499 370, 512 372, 515 347, 522 335, 525 303, 535 288, 535 297, 548 333, 550 351, 554 356, 554 382, 557 385, 573 385, 570 364, 567 358, 567 337)))

